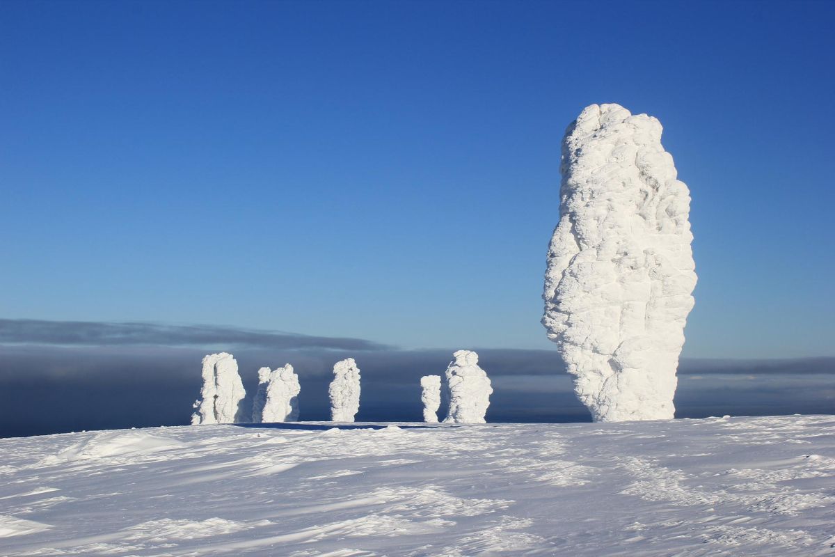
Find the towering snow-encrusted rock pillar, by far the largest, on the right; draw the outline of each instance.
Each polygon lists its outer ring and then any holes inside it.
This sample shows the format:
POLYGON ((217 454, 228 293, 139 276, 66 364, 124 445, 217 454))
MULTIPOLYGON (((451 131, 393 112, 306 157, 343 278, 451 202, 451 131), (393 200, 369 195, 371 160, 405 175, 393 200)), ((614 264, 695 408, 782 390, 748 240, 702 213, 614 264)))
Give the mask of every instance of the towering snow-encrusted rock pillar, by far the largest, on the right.
POLYGON ((545 313, 574 391, 598 422, 673 418, 696 272, 690 192, 661 124, 592 104, 562 145, 545 313))

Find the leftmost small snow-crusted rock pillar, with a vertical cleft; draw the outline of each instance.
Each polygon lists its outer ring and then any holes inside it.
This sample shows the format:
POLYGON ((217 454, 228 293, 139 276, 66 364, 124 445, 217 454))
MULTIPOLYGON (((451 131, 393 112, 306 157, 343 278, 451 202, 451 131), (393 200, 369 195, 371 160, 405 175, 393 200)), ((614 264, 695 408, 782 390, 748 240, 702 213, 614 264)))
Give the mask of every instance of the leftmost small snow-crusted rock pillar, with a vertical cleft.
POLYGON ((236 423, 240 416, 240 401, 246 396, 238 375, 238 362, 231 354, 220 352, 203 358, 203 388, 191 414, 191 423, 236 423))

